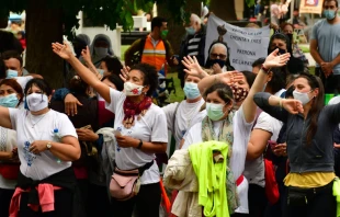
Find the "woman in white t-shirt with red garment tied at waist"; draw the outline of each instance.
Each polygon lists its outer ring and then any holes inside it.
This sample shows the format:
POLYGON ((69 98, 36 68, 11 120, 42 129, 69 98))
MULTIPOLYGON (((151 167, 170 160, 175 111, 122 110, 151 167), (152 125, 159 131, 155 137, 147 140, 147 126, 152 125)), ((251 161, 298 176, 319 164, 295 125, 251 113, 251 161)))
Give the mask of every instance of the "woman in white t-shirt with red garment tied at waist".
POLYGON ((66 115, 48 108, 52 89, 46 81, 32 79, 24 94, 27 110, 0 106, 0 126, 18 133, 21 161, 10 216, 77 215, 71 169, 80 157, 76 129, 66 115))

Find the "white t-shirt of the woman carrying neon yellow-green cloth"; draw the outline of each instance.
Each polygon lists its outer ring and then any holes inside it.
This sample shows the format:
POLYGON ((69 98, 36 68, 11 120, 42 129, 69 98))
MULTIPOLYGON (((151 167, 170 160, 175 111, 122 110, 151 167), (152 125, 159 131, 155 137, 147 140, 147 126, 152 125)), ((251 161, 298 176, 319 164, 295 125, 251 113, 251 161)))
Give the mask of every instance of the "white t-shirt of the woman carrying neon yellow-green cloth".
MULTIPOLYGON (((214 124, 214 128, 218 124, 214 124)), ((219 125, 220 127, 220 125, 219 125)), ((245 114, 242 106, 235 113, 233 118, 233 130, 234 130, 234 142, 231 149, 230 158, 230 170, 234 173, 235 181, 242 175, 245 170, 245 162, 247 156, 247 147, 250 137, 252 123, 247 123, 245 119, 245 114)), ((217 129, 214 129, 215 132, 217 129)), ((202 142, 202 123, 195 124, 192 128, 189 129, 188 134, 184 137, 185 142, 183 149, 188 148, 192 144, 202 142)), ((235 210, 236 213, 248 214, 248 181, 247 179, 237 186, 237 193, 240 198, 240 206, 235 210)))

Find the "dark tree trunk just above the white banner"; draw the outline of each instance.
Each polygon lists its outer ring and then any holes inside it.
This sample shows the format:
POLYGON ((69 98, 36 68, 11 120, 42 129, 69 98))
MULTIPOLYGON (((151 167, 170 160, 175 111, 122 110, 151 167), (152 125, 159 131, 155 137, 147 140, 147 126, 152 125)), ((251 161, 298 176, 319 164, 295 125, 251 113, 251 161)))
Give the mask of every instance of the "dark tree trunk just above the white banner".
POLYGON ((234 0, 211 0, 209 11, 224 21, 236 21, 234 0))

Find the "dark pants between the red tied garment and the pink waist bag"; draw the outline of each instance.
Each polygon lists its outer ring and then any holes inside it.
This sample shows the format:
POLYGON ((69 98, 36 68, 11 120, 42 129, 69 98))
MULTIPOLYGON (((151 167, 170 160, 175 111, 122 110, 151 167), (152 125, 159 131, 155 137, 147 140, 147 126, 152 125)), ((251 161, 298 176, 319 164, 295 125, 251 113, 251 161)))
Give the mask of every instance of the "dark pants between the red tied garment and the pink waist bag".
POLYGON ((89 185, 87 214, 88 217, 110 217, 110 201, 106 186, 89 185))

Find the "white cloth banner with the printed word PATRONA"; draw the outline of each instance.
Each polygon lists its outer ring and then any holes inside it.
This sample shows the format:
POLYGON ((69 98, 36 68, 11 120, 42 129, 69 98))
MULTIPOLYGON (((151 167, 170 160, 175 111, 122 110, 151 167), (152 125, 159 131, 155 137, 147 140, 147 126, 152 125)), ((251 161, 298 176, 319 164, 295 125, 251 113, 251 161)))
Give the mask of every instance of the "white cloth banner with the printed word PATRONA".
POLYGON ((236 70, 251 71, 251 65, 254 60, 268 56, 270 28, 269 26, 262 28, 238 27, 212 14, 206 30, 206 58, 212 43, 222 39, 228 44, 230 65, 236 70), (220 28, 226 31, 220 31, 220 28))

